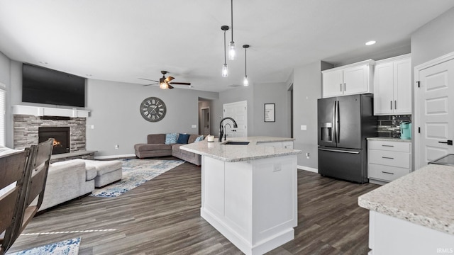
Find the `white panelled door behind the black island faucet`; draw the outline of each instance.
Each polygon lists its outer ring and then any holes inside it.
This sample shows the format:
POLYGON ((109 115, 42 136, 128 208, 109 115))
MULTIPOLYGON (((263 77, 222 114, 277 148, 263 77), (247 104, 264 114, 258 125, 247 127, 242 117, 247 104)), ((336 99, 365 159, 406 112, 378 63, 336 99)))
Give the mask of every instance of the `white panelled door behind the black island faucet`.
POLYGON ((236 121, 238 128, 233 128, 231 120, 224 120, 224 132, 227 137, 248 136, 248 101, 223 104, 223 117, 230 117, 236 121), (229 125, 227 125, 229 124, 229 125))

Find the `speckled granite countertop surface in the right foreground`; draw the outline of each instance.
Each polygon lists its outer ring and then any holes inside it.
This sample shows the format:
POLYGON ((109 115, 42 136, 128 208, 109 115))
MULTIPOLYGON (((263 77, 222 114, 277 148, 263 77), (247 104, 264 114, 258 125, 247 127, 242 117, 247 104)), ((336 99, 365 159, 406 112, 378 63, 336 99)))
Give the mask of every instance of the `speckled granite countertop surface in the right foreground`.
POLYGON ((454 234, 454 166, 428 164, 360 196, 358 205, 454 234))

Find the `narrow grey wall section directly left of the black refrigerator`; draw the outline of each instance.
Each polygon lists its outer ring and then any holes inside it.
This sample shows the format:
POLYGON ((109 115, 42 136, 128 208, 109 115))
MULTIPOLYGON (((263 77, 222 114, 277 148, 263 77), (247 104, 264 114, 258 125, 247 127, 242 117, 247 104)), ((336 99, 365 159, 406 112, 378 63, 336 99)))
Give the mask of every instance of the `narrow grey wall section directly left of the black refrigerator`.
POLYGON ((294 69, 293 135, 294 149, 301 149, 298 166, 315 171, 317 163, 317 99, 321 98, 321 70, 325 63, 315 62, 294 69), (307 130, 301 130, 306 125, 307 130), (306 158, 309 153, 309 159, 306 158))

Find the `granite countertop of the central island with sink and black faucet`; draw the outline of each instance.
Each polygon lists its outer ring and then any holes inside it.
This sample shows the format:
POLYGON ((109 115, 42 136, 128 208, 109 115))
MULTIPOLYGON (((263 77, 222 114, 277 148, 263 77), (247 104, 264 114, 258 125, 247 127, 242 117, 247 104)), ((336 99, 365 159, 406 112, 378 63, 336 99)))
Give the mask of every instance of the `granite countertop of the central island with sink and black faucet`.
POLYGON ((228 141, 249 142, 248 145, 223 145, 224 142, 193 142, 189 145, 182 145, 180 149, 194 152, 223 162, 241 162, 254 159, 266 159, 270 157, 282 157, 286 155, 301 154, 298 149, 275 148, 260 145, 260 142, 287 142, 293 138, 286 137, 232 137, 228 141))

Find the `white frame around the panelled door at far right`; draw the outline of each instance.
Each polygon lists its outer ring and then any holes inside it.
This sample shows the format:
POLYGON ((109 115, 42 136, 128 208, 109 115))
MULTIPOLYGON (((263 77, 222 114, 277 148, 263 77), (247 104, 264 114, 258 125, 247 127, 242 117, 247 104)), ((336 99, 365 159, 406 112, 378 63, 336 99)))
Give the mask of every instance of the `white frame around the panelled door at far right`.
POLYGON ((449 60, 454 60, 454 52, 450 52, 446 55, 443 55, 441 57, 437 57, 433 60, 429 60, 428 62, 425 62, 423 64, 419 64, 417 65, 416 67, 414 67, 414 101, 413 101, 413 106, 414 106, 414 114, 413 114, 413 123, 414 125, 412 125, 412 132, 413 132, 413 135, 412 137, 414 137, 413 139, 413 142, 414 142, 414 147, 413 147, 413 151, 414 151, 414 158, 413 158, 413 166, 414 166, 414 170, 416 169, 420 169, 421 166, 420 165, 420 162, 419 160, 416 160, 416 159, 420 159, 421 158, 421 151, 420 151, 420 147, 421 147, 421 136, 420 135, 416 135, 416 134, 419 134, 418 133, 418 128, 421 127, 421 119, 419 118, 419 115, 421 114, 421 104, 419 103, 420 99, 421 99, 421 91, 419 89, 417 89, 417 82, 420 80, 419 79, 419 72, 421 72, 423 69, 427 69, 429 67, 433 67, 433 66, 436 66, 437 64, 441 64, 443 62, 448 62, 449 60))

